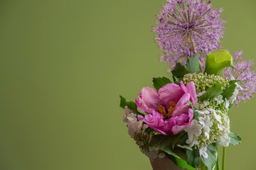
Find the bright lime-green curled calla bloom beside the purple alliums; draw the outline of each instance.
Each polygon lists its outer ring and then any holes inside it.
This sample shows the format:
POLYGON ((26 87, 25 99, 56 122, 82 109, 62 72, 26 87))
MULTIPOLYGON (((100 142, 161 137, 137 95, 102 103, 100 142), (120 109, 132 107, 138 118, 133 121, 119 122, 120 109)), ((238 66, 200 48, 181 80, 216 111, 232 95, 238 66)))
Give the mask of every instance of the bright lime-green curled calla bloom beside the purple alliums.
POLYGON ((233 66, 233 57, 230 53, 227 50, 215 50, 210 52, 206 59, 205 73, 220 75, 220 72, 225 67, 235 69, 233 66))

